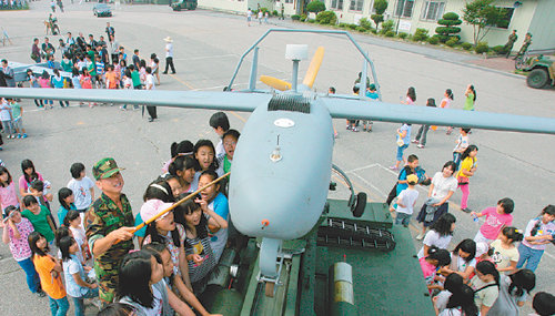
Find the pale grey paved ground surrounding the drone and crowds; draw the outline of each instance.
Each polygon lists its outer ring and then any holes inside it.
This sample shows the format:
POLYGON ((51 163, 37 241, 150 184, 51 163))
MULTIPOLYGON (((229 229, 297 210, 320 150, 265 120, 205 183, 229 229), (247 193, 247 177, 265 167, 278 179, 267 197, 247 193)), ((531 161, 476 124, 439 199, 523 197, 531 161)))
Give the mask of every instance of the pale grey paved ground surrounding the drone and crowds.
MULTIPOLYGON (((174 63, 178 73, 163 75, 161 90, 208 90, 221 91, 230 81, 235 64, 243 53, 264 31, 271 27, 306 28, 312 26, 271 20, 271 24, 252 23, 248 27, 244 17, 195 10, 173 12, 165 6, 122 6, 113 18, 97 19, 92 16, 90 2, 64 3, 65 12, 58 13, 62 34, 83 32, 95 38, 104 33, 105 22, 115 28, 115 35, 125 47, 128 59, 133 49, 147 59, 155 52, 164 67, 163 38, 174 40, 174 63)), ((23 12, 0 12, 0 23, 10 34, 13 45, 0 47, 0 57, 17 62, 30 62, 32 38, 44 35, 42 21, 47 19, 47 1, 31 2, 31 10, 23 12)), ((470 64, 475 55, 437 50, 425 45, 400 43, 372 37, 355 35, 362 48, 369 52, 376 67, 379 82, 385 102, 398 102, 411 85, 416 88, 417 105, 424 105, 427 98, 437 103, 445 89, 455 93, 453 108, 462 108, 464 90, 468 83, 477 91, 477 111, 512 113, 555 118, 554 90, 532 90, 523 78, 514 74, 483 69, 470 64)), ((52 43, 59 37, 50 37, 52 43)), ((339 35, 275 34, 261 43, 259 74, 290 80, 291 63, 284 59, 285 44, 307 43, 310 54, 317 45, 326 49, 324 62, 315 82, 319 92, 335 86, 337 93, 351 93, 353 81, 362 68, 362 58, 345 38, 339 35)), ((57 58, 59 54, 57 53, 57 58)), ((301 73, 309 62, 301 63, 301 73)), ((235 89, 246 86, 250 59, 244 63, 235 89)), ((302 77, 302 75, 301 75, 302 77)), ((259 83, 259 86, 263 86, 259 83)), ((159 120, 148 123, 140 111, 122 112, 118 106, 80 108, 72 102, 69 109, 54 103, 53 111, 39 111, 32 102, 23 101, 24 125, 29 139, 6 140, 0 159, 7 164, 14 180, 21 175, 20 162, 31 159, 39 172, 52 183, 54 193, 70 180, 71 163, 80 161, 91 175, 92 164, 103 156, 113 156, 125 167, 124 193, 130 197, 134 213, 139 212, 142 193, 147 184, 160 173, 169 159, 170 144, 174 141, 210 139, 216 135, 208 124, 213 111, 178 110, 159 108, 159 120)), ((231 125, 241 130, 249 113, 229 112, 231 125)), ((334 147, 334 163, 351 176, 356 191, 365 191, 372 201, 384 201, 395 182, 396 174, 387 166, 394 163, 395 129, 397 124, 374 123, 372 133, 352 133, 344 130, 344 120, 335 120, 340 133, 334 147)), ((413 126, 416 132, 418 125, 413 126)), ((426 149, 411 145, 405 153, 415 153, 421 165, 433 175, 451 152, 456 135, 445 135, 445 129, 428 132, 426 149)), ((509 196, 515 201, 514 225, 524 228, 547 204, 554 204, 555 187, 555 137, 474 131, 471 143, 480 147, 478 171, 471 183, 470 207, 480 211, 493 206, 497 200, 509 196)), ((310 153, 301 153, 310 157, 310 153)), ((292 175, 294 176, 294 175, 292 175)), ((421 198, 427 192, 418 188, 421 198)), ((99 191, 97 191, 97 196, 99 191)), ((271 194, 271 193, 269 193, 271 194)), ((333 194, 347 197, 344 191, 333 194)), ((461 239, 473 238, 478 226, 460 211, 461 193, 452 198, 451 212, 457 216, 452 247, 461 239)), ((52 210, 58 210, 54 200, 52 210)), ((417 234, 416 223, 411 231, 417 234)), ((414 242, 417 248, 420 242, 414 242)), ((555 293, 553 286, 555 249, 548 246, 539 264, 536 290, 555 293)), ((7 245, 0 245, 0 288, 2 299, 0 315, 49 315, 47 298, 30 296, 24 274, 12 259, 7 245)), ((415 275, 415 277, 418 277, 415 275)), ((523 312, 529 312, 529 299, 523 312)), ((92 308, 88 308, 92 315, 92 308)), ((72 309, 70 309, 72 313, 72 309)), ((524 313, 523 313, 524 314, 524 313)), ((371 313, 369 314, 371 315, 371 313)))

